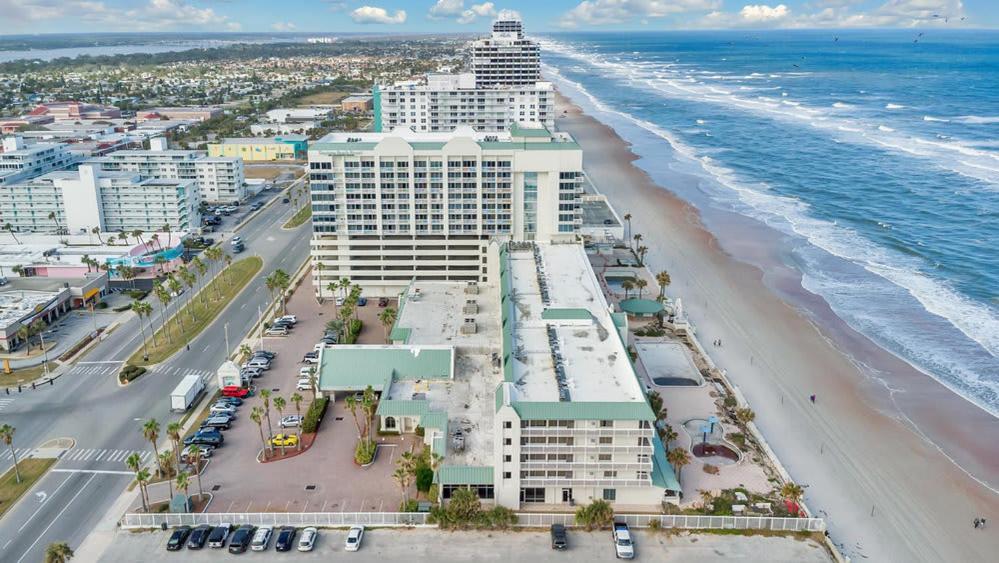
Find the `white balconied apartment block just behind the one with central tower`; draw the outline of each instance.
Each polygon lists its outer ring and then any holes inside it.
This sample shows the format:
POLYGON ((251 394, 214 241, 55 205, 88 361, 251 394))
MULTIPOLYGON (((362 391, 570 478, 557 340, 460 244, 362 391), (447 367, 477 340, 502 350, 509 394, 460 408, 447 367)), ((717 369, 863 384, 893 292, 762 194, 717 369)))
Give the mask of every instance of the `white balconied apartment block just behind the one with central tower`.
POLYGON ((166 139, 150 141, 151 150, 115 151, 87 162, 108 171, 138 172, 148 178, 193 180, 199 198, 209 203, 229 203, 246 198, 243 160, 210 157, 200 151, 171 150, 166 139))

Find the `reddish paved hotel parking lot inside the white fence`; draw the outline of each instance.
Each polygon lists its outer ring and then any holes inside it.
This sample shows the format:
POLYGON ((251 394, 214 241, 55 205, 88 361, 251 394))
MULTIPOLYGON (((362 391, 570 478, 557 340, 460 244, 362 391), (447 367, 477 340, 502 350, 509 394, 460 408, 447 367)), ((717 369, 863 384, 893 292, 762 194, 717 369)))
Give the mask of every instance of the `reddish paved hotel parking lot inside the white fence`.
MULTIPOLYGON (((263 444, 257 425, 250 419, 250 412, 254 406, 263 407, 259 391, 269 389, 272 392, 271 426, 274 434, 282 432, 274 398, 281 396, 287 401, 284 415, 296 414, 291 396, 296 393, 299 370, 307 365, 301 360, 322 336, 325 323, 334 318, 331 301, 328 299, 322 307, 316 304, 311 278, 307 275, 288 303, 288 313, 298 319, 291 333, 263 339, 263 348, 277 353, 277 356, 271 363, 271 369, 254 380, 257 393, 238 408, 232 427, 224 431, 223 447, 212 454, 203 475, 205 490, 214 495, 209 512, 398 509, 401 492, 391 478, 395 459, 404 451, 421 447, 420 439, 412 435, 378 437, 379 451, 375 463, 367 468, 358 467, 353 461, 357 430, 342 401, 330 403, 316 441, 308 451, 280 459, 280 448, 275 448, 276 456, 272 461, 257 461, 263 444)), ((376 300, 359 308, 365 327, 360 342, 384 342, 384 331, 377 320, 380 311, 376 300)), ((260 345, 259 342, 253 344, 254 349, 260 345)), ((304 414, 312 401, 312 392, 297 392, 305 399, 302 401, 304 414)), ((293 432, 289 429, 289 433, 293 432)), ((268 434, 266 422, 264 434, 268 434)))

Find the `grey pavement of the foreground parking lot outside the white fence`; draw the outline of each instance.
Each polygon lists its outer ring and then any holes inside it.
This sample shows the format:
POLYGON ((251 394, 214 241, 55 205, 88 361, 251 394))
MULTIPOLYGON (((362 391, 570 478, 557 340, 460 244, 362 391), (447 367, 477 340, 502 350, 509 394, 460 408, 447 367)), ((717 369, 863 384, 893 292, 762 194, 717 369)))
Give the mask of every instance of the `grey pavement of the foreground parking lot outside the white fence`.
MULTIPOLYGON (((273 540, 262 553, 247 552, 250 559, 271 561, 351 561, 442 563, 466 561, 590 562, 614 561, 610 534, 569 532, 569 550, 552 551, 547 531, 442 532, 436 529, 370 529, 365 532, 360 551, 344 552, 346 530, 320 530, 313 551, 278 553, 273 540)), ((218 561, 236 557, 218 550, 168 552, 169 532, 117 532, 115 540, 100 561, 218 561)), ((636 534, 636 561, 684 561, 714 563, 730 560, 795 561, 826 563, 828 552, 811 540, 785 537, 714 534, 636 534)))

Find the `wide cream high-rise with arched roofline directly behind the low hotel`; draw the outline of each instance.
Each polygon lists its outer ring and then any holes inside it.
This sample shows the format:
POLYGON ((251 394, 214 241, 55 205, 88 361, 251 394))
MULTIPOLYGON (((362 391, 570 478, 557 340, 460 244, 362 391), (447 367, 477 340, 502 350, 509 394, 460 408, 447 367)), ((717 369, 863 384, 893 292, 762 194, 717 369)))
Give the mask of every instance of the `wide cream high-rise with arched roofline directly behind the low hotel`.
POLYGON ((582 156, 544 127, 331 133, 309 150, 314 285, 488 281, 490 240, 575 240, 582 156))

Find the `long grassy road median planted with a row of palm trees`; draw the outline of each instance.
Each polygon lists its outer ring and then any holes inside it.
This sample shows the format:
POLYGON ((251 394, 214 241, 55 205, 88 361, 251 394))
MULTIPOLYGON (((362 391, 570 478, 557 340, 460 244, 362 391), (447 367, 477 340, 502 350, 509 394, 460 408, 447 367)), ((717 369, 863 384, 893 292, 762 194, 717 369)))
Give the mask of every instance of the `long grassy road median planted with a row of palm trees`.
MULTIPOLYGON (((172 310, 174 315, 166 323, 166 326, 159 327, 156 331, 156 344, 153 345, 153 339, 146 342, 146 351, 149 353, 148 362, 143 361, 143 347, 139 346, 139 349, 128 359, 128 363, 136 366, 147 366, 162 362, 172 356, 177 350, 184 347, 187 340, 194 340, 201 334, 201 331, 215 320, 222 309, 232 302, 236 295, 246 287, 246 284, 257 275, 263 265, 264 262, 259 256, 250 256, 226 267, 208 285, 201 288, 201 291, 194 295, 180 311, 172 310), (205 297, 204 303, 201 301, 202 296, 205 297), (194 312, 193 320, 191 319, 192 310, 194 312), (183 319, 182 324, 179 319, 183 319)), ((158 304, 156 308, 155 316, 159 317, 158 304)))

